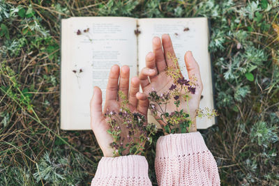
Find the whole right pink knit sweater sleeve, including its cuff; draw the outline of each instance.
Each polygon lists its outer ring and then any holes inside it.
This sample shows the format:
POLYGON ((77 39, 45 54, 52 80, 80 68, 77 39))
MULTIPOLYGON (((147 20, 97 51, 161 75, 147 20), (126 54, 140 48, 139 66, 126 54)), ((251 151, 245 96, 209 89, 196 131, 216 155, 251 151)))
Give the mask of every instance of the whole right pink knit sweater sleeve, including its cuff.
POLYGON ((220 185, 218 167, 202 134, 169 134, 156 146, 158 185, 220 185))

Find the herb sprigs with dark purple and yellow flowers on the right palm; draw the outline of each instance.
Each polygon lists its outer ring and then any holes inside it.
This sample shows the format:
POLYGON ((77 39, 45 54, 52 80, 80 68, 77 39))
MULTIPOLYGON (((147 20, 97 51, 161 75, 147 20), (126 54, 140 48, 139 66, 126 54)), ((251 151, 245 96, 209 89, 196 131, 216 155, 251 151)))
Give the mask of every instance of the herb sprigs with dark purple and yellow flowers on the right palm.
MULTIPOLYGON (((158 95, 156 90, 151 91, 148 97, 149 109, 156 120, 160 121, 159 123, 164 134, 190 132, 189 129, 193 123, 193 118, 190 118, 189 111, 181 108, 181 102, 183 101, 183 104, 187 104, 186 107, 189 108, 189 99, 192 94, 195 94, 196 87, 199 86, 197 84, 197 77, 193 76, 190 79, 185 79, 181 76, 178 59, 170 53, 167 53, 167 59, 171 59, 174 65, 167 66, 165 74, 173 79, 174 84, 169 87, 167 92, 160 95, 158 95), (172 102, 173 99, 174 101, 172 102), (167 111, 169 104, 174 104, 176 110, 169 113, 167 111)), ((197 109, 196 112, 198 117, 207 116, 212 118, 218 116, 215 109, 210 110, 206 108, 204 111, 197 109)))

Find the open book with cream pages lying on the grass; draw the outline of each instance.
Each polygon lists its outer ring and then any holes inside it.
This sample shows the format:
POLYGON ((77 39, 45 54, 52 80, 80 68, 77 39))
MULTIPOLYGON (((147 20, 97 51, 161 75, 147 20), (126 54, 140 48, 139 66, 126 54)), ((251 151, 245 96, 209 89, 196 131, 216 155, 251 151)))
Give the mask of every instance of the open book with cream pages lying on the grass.
MULTIPOLYGON (((153 36, 163 33, 172 38, 187 79, 184 54, 193 52, 204 84, 199 107, 213 109, 207 18, 70 17, 62 20, 61 28, 61 129, 91 130, 93 86, 101 88, 105 100, 107 78, 114 64, 128 65, 130 77, 137 76, 145 67, 146 54, 152 52, 153 36)), ((150 114, 149 122, 156 122, 150 114)), ((214 118, 197 118, 198 129, 214 123, 214 118)))

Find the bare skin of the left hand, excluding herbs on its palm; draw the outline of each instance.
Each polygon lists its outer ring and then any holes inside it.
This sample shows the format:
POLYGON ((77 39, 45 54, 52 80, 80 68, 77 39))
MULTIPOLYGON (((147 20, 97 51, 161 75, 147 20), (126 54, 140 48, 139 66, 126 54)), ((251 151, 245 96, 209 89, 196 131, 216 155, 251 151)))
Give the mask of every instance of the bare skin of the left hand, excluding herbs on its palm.
MULTIPOLYGON (((113 157, 113 149, 110 146, 112 143, 112 135, 107 132, 110 129, 110 124, 104 117, 107 111, 119 111, 121 107, 121 98, 118 98, 118 91, 123 92, 129 100, 128 107, 132 112, 139 112, 146 117, 148 109, 148 100, 146 95, 139 93, 140 79, 133 77, 131 79, 129 93, 129 77, 130 69, 124 65, 120 72, 119 66, 114 65, 110 70, 110 77, 107 83, 107 91, 105 96, 105 107, 102 111, 102 91, 98 86, 93 88, 93 97, 90 102, 91 110, 91 129, 93 130, 98 144, 103 151, 105 157, 113 157), (119 79, 120 74, 120 79, 119 79)), ((121 133, 127 134, 125 127, 121 128, 121 133)), ((124 140, 125 144, 125 140, 124 140)))

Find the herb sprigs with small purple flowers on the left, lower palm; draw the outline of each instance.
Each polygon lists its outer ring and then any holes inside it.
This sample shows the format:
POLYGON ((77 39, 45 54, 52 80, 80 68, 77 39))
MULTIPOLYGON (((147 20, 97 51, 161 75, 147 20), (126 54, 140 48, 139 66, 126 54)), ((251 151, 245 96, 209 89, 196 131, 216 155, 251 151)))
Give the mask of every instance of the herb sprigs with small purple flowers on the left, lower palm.
POLYGON ((119 111, 109 111, 104 114, 110 129, 114 149, 114 157, 121 155, 141 155, 144 153, 146 142, 152 143, 152 135, 157 132, 153 123, 147 123, 146 116, 139 112, 130 111, 129 101, 126 95, 119 91, 121 107, 119 111))

